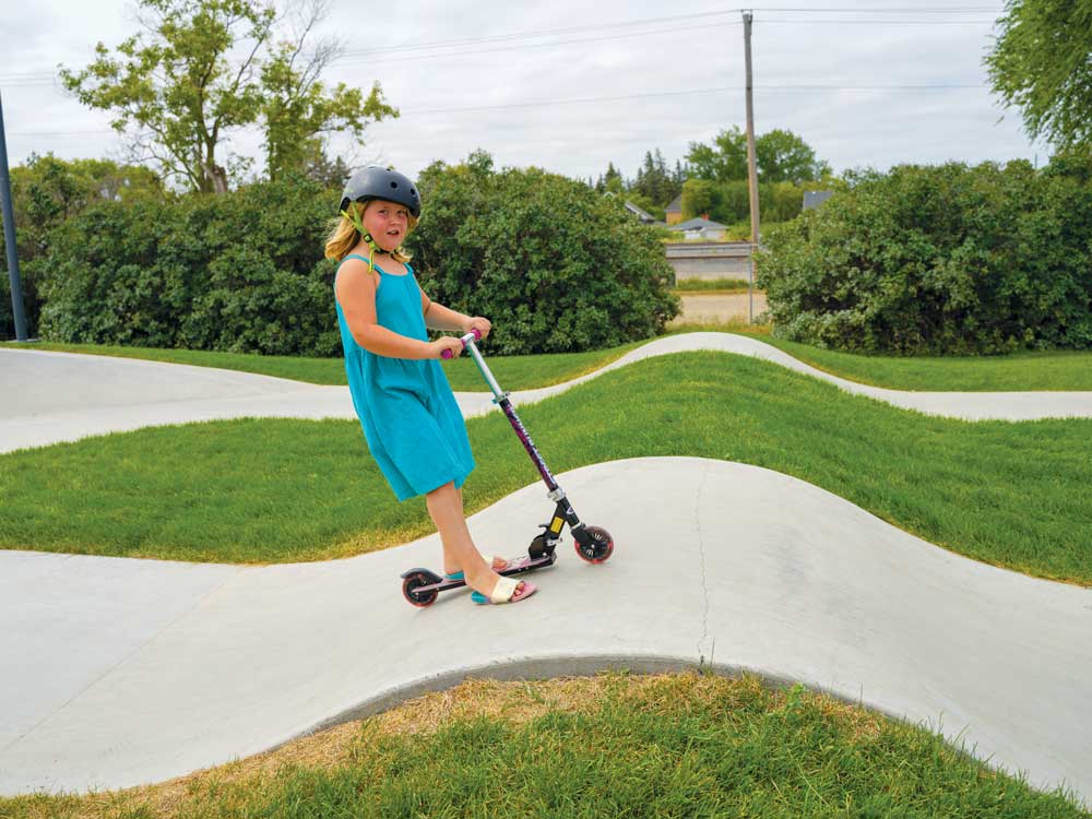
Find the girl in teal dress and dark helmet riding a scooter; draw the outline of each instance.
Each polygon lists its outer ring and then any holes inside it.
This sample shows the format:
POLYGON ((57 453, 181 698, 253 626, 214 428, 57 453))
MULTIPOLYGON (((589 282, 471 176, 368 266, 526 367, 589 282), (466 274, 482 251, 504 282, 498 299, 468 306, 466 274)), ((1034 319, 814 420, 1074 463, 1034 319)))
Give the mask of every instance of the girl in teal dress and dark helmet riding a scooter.
POLYGON ((399 500, 425 496, 448 577, 465 578, 475 603, 514 603, 535 585, 497 574, 506 561, 486 562, 463 517, 462 485, 474 459, 437 360, 446 349, 461 355, 463 345, 450 335, 429 342, 426 330, 477 329, 484 339, 490 324, 436 304, 418 287, 401 245, 419 217, 416 187, 394 170, 357 171, 342 193, 325 254, 339 262, 334 295, 353 406, 399 500))

